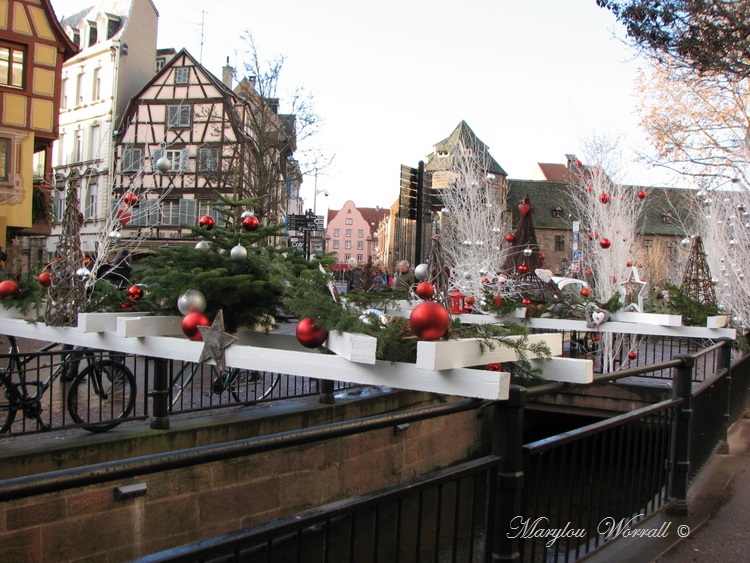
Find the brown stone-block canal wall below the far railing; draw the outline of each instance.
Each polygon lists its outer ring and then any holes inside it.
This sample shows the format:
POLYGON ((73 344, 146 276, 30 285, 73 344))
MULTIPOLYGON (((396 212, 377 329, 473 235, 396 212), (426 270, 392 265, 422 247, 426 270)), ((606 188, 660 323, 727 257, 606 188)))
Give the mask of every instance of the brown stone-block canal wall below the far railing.
MULTIPOLYGON (((340 409, 340 407, 339 407, 340 409)), ((469 411, 21 500, 0 507, 0 561, 122 561, 429 473, 482 447, 469 411), (147 493, 115 500, 116 487, 147 493)))

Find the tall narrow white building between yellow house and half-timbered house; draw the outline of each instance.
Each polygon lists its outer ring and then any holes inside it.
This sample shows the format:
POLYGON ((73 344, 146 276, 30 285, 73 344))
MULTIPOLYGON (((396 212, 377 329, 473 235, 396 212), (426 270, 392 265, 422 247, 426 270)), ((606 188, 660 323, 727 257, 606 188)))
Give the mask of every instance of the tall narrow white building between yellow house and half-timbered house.
MULTIPOLYGON (((79 201, 83 251, 93 253, 111 208, 117 122, 130 99, 153 76, 159 14, 151 0, 100 0, 64 17, 62 27, 80 47, 63 68, 60 139, 55 143, 55 220, 65 190, 81 175, 79 201)), ((52 252, 59 225, 48 239, 52 252)))

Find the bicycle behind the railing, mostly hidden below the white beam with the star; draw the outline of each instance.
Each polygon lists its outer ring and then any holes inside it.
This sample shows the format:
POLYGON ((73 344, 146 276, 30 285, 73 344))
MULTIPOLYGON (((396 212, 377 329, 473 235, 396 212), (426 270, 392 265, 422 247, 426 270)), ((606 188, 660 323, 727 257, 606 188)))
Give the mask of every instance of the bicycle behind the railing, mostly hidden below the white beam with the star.
MULTIPOLYGON (((202 381, 204 364, 185 362, 177 373, 175 373, 170 382, 171 399, 169 409, 180 403, 185 389, 194 385, 196 375, 200 372, 202 381)), ((240 368, 225 368, 221 371, 214 366, 210 367, 211 383, 210 392, 214 395, 221 395, 229 391, 231 396, 238 403, 256 403, 268 397, 276 386, 279 384, 281 374, 266 373, 256 370, 247 370, 240 368)), ((200 383, 200 382, 199 382, 200 383)), ((199 385, 201 389, 204 385, 199 385)))

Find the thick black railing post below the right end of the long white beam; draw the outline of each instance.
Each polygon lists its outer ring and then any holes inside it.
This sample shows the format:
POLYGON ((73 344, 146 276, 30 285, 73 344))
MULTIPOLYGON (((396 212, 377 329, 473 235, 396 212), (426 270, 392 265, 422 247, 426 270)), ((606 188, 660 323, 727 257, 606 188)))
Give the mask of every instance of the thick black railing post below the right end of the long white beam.
POLYGON ((511 385, 507 401, 493 404, 492 453, 501 458, 492 531, 492 561, 520 561, 517 534, 509 537, 510 522, 521 515, 523 493, 523 417, 526 389, 511 385))

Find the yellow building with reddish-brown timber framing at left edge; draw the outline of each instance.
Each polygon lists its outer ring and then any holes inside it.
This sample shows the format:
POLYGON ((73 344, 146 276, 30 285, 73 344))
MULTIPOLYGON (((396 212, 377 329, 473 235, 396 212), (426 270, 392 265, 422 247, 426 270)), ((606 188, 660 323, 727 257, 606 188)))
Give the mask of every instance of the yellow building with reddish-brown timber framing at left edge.
POLYGON ((53 189, 51 151, 58 136, 62 64, 76 52, 49 0, 0 0, 3 248, 16 235, 45 234, 43 210, 53 189))

